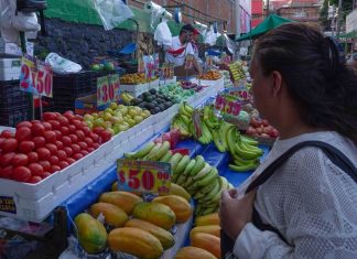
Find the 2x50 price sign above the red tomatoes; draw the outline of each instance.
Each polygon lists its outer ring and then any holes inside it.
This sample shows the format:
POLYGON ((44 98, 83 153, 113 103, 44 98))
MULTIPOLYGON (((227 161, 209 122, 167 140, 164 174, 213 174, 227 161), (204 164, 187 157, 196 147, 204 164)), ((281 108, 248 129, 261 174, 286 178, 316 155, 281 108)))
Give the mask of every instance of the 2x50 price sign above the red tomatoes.
POLYGON ((53 69, 29 55, 21 58, 20 89, 39 96, 52 97, 53 69))

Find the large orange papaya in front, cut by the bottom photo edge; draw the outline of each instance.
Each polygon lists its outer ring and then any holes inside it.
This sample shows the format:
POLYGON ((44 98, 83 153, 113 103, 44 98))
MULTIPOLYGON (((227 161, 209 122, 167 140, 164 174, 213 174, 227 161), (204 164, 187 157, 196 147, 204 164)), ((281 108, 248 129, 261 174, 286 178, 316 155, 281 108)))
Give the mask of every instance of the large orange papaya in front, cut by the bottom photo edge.
POLYGON ((163 253, 160 240, 136 227, 116 228, 109 233, 108 247, 112 251, 130 253, 140 259, 156 259, 163 253))

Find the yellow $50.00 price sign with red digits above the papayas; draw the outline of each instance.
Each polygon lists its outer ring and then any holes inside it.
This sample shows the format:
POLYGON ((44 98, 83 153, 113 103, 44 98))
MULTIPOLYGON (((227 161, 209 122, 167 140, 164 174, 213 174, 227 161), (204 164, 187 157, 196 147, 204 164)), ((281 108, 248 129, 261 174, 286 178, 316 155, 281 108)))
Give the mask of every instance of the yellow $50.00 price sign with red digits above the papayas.
POLYGON ((117 160, 118 190, 169 193, 171 164, 156 161, 117 160))

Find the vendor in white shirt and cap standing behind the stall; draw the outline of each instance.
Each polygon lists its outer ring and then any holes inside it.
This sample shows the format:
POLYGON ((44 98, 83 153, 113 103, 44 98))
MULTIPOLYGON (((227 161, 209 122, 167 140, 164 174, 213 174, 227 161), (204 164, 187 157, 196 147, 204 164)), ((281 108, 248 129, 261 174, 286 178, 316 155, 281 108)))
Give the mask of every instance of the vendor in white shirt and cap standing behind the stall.
MULTIPOLYGON (((173 64, 178 69, 184 68, 187 57, 194 57, 195 51, 190 42, 191 35, 194 33, 194 28, 191 24, 182 26, 178 36, 172 37, 172 44, 166 48, 165 62, 173 64)), ((190 74, 199 74, 201 67, 194 58, 193 68, 190 74)))

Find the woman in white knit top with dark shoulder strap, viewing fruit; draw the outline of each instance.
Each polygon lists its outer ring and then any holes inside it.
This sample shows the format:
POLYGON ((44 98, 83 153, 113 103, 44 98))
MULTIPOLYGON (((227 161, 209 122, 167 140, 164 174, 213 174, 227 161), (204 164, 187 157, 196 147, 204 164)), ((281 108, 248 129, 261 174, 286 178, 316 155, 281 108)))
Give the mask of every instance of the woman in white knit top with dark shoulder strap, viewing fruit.
POLYGON ((357 77, 334 42, 303 23, 261 36, 250 74, 255 105, 280 139, 245 184, 221 195, 229 258, 357 258, 357 77), (305 145, 269 170, 304 141, 337 151, 305 145))

